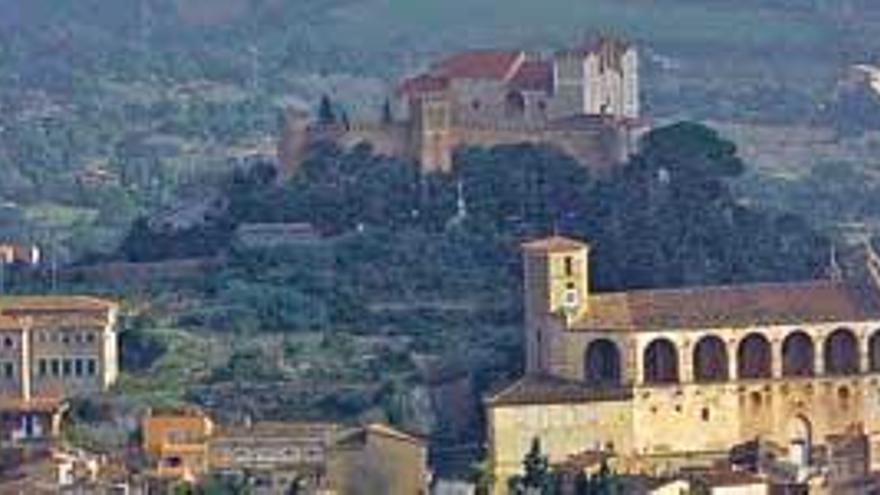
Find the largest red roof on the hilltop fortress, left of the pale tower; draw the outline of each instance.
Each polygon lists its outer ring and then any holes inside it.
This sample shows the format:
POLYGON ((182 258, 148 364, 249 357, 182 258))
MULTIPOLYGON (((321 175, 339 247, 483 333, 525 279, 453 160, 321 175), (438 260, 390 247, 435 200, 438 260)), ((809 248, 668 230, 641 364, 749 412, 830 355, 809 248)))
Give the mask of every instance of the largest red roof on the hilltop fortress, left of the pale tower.
POLYGON ((520 50, 472 50, 441 60, 431 74, 449 79, 510 79, 525 58, 520 50))

